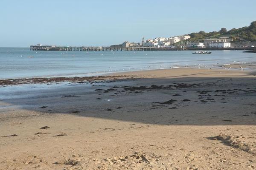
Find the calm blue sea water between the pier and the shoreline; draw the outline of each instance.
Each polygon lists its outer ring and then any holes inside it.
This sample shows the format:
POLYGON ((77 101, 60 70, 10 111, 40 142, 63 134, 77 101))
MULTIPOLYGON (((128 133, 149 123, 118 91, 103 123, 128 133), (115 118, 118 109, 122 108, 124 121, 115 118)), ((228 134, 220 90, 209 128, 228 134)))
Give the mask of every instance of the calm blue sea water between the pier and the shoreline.
POLYGON ((120 71, 160 68, 215 68, 233 62, 256 62, 242 51, 30 51, 0 48, 0 79, 95 76, 120 71))

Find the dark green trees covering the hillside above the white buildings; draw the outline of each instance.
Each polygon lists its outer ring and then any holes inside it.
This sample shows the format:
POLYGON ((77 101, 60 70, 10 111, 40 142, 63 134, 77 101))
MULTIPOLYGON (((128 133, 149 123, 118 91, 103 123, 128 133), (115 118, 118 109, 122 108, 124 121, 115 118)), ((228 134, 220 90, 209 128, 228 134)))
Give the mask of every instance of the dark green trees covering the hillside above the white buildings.
POLYGON ((212 32, 193 32, 189 34, 190 40, 200 40, 204 38, 218 38, 218 37, 230 37, 234 41, 256 41, 256 21, 250 23, 250 26, 245 26, 242 28, 233 28, 227 31, 226 28, 221 28, 219 31, 212 32))

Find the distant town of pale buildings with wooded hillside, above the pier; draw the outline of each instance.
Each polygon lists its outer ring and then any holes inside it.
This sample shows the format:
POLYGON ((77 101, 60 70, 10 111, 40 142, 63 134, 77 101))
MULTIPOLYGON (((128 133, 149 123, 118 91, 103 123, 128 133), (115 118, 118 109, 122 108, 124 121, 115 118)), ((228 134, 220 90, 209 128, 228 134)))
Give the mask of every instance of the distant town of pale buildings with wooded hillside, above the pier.
POLYGON ((221 28, 219 31, 185 34, 175 37, 157 37, 134 43, 125 41, 119 45, 111 47, 157 47, 157 48, 232 48, 256 46, 256 21, 250 23, 250 26, 242 28, 233 28, 227 31, 221 28))

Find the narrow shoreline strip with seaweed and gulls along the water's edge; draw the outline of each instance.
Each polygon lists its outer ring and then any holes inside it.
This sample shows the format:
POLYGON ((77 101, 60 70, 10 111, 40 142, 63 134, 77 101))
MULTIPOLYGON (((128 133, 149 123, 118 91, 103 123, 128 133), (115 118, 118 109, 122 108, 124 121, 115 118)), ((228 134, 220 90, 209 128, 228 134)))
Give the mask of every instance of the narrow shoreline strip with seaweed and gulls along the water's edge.
MULTIPOLYGON (((192 68, 192 67, 173 67, 173 68, 159 68, 159 69, 148 69, 148 70, 137 70, 137 71, 120 71, 112 73, 104 73, 99 76, 88 76, 88 77, 31 77, 31 78, 15 78, 15 79, 0 79, 0 86, 5 85, 21 85, 21 84, 36 84, 36 83, 54 83, 54 82, 75 82, 75 83, 93 83, 93 82, 109 82, 118 79, 134 79, 136 74, 142 75, 144 72, 154 72, 158 70, 175 70, 180 69, 183 71, 187 70, 215 70, 225 72, 227 71, 244 71, 248 68, 249 70, 244 72, 255 72, 256 62, 250 62, 250 64, 233 63, 217 65, 215 68, 192 68), (238 70, 239 69, 239 70, 238 70), (124 77, 123 75, 126 75, 124 77)), ((137 77, 138 78, 138 77, 137 77)))

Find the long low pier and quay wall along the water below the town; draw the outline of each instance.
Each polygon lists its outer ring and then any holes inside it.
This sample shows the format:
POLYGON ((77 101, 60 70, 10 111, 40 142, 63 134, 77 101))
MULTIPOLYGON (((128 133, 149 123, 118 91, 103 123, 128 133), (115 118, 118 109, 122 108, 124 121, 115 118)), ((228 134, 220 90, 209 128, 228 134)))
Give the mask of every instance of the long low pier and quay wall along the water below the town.
POLYGON ((212 50, 255 50, 251 47, 230 48, 167 48, 167 47, 85 47, 85 46, 54 46, 30 45, 31 51, 212 51, 212 50))

